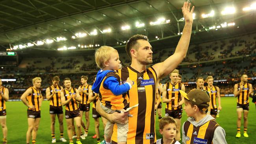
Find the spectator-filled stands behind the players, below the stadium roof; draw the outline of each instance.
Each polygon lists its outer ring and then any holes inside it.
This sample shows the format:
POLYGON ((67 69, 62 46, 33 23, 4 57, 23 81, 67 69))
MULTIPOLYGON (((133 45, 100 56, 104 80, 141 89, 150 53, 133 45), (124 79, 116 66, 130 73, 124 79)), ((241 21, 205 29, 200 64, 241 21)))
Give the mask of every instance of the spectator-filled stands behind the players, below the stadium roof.
MULTIPOLYGON (((169 55, 172 55, 174 50, 175 48, 153 48, 153 62, 159 63, 163 61, 169 55)), ((181 64, 182 66, 178 66, 178 69, 183 76, 183 82, 195 81, 199 76, 203 78, 213 76, 214 80, 227 79, 231 81, 234 78, 239 78, 244 73, 252 78, 256 77, 255 54, 256 34, 192 44, 189 46, 187 56, 181 64), (245 57, 253 54, 254 56, 245 57), (243 56, 243 58, 237 58, 237 56, 243 56), (236 59, 221 60, 232 57, 236 59), (195 64, 195 62, 211 60, 216 61, 195 64)), ((121 53, 119 56, 123 66, 130 65, 130 59, 126 53, 121 53)), ((13 90, 27 89, 32 85, 32 78, 36 76, 40 76, 43 79, 42 88, 48 87, 51 84, 51 78, 56 75, 60 76, 60 79, 71 78, 72 85, 78 87, 80 85, 80 76, 89 76, 89 83, 91 83, 91 77, 98 70, 93 54, 76 57, 32 57, 23 58, 18 67, 1 68, 0 78, 16 78, 17 81, 4 82, 4 84, 9 85, 12 94, 19 97, 19 91, 13 90)), ((167 81, 169 81, 168 76, 163 78, 162 83, 167 81)), ((189 87, 193 86, 190 85, 189 87)), ((221 93, 229 94, 232 92, 233 85, 221 88, 221 93)))

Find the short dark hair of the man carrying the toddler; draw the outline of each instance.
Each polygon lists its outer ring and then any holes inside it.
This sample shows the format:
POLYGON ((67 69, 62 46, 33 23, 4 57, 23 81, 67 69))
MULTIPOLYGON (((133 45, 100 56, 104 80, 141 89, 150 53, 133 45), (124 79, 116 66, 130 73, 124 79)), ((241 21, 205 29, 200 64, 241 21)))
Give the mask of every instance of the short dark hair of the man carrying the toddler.
POLYGON ((148 37, 145 36, 145 35, 134 35, 126 43, 125 50, 126 50, 127 55, 130 57, 130 59, 132 59, 132 55, 130 53, 130 50, 132 48, 134 48, 134 46, 137 44, 137 41, 140 40, 140 39, 148 41, 148 37))

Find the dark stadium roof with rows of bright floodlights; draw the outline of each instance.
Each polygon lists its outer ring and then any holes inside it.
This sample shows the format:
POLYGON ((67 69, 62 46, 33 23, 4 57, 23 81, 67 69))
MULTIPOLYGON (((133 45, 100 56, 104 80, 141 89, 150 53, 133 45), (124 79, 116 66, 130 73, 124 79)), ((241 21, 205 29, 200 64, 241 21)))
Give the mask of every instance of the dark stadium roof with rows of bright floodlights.
MULTIPOLYGON (((256 31, 255 9, 243 11, 252 0, 189 2, 195 6, 192 42, 256 31), (223 15, 225 7, 234 7, 235 13, 223 15), (210 17, 203 18, 202 14, 210 17), (223 27, 224 22, 230 26, 223 27)), ((17 50, 31 51, 72 49, 72 46, 85 50, 89 45, 93 45, 89 49, 101 45, 122 47, 134 34, 147 35, 154 46, 175 46, 184 27, 183 3, 184 0, 2 0, 0 48, 16 46, 17 50)))

